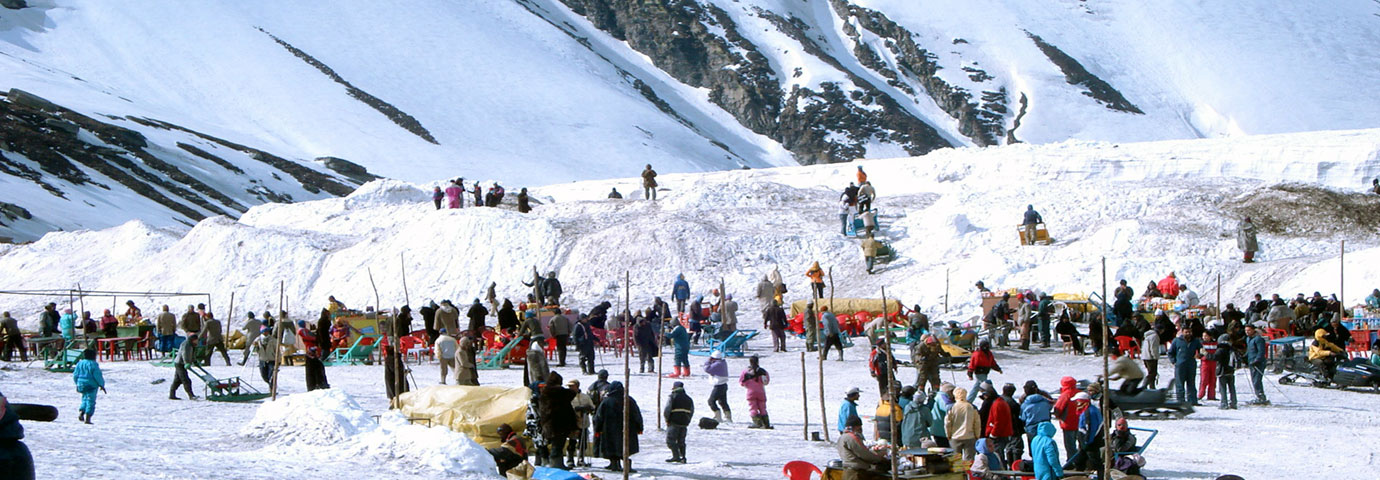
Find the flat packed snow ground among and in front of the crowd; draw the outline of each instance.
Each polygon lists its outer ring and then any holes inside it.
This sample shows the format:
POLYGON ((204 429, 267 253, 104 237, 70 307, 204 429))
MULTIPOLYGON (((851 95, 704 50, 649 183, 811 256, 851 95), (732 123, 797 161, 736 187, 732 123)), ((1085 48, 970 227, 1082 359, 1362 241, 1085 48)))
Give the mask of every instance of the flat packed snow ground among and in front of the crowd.
MULTIPOLYGON (((753 323, 744 320, 749 326, 753 323)), ((807 397, 802 397, 802 342, 792 338, 788 346, 789 353, 769 353, 769 342, 759 339, 749 343, 749 353, 762 354, 763 367, 771 375, 767 410, 776 429, 747 429, 748 406, 744 390, 733 383, 729 403, 737 423, 716 430, 691 428, 687 465, 662 462, 669 458, 669 451, 662 433, 656 429, 657 379, 654 375, 638 374, 633 367, 632 396, 643 411, 646 425, 646 432, 639 439, 642 452, 633 457, 633 468, 639 470, 633 477, 762 480, 778 477, 781 466, 792 459, 824 465, 838 458, 832 444, 803 440, 806 415, 802 399, 809 403, 809 429, 820 432, 818 367, 810 356, 806 361, 807 397)), ((1057 348, 1035 350, 999 350, 996 359, 1006 372, 994 374, 992 382, 1000 388, 1002 383, 1020 386, 1024 381, 1034 379, 1045 389, 1054 389, 1063 375, 1086 379, 1101 372, 1098 359, 1061 354, 1057 348)), ((237 361, 239 352, 233 353, 237 361)), ((838 407, 843 393, 853 386, 864 392, 858 410, 867 422, 864 430, 872 436, 876 382, 867 377, 867 353, 850 348, 845 359, 835 361, 831 357, 824 361, 824 412, 829 422, 829 436, 838 439, 834 430, 838 407)), ((669 352, 665 360, 671 360, 669 352)), ((684 381, 686 392, 696 400, 697 417, 712 415, 707 401, 713 382, 701 371, 702 361, 704 357, 691 357, 694 375, 684 381)), ((733 375, 747 367, 742 359, 730 359, 729 363, 733 375)), ((40 479, 282 479, 284 474, 310 474, 319 479, 359 479, 360 474, 391 479, 497 479, 464 473, 473 472, 473 468, 486 462, 483 458, 466 461, 458 452, 479 452, 465 447, 468 440, 461 434, 442 428, 397 425, 400 418, 385 415, 384 426, 377 429, 393 433, 392 436, 368 432, 357 436, 363 439, 346 439, 345 433, 334 430, 346 423, 375 429, 367 415, 386 412, 388 403, 381 386, 382 368, 377 366, 327 367, 333 390, 348 393, 363 410, 341 401, 335 392, 331 392, 331 397, 304 393, 301 367, 286 367, 280 372, 286 397, 280 397, 279 403, 301 403, 295 407, 172 401, 167 400, 167 382, 150 383, 171 378, 171 368, 144 361, 112 361, 102 363, 101 367, 110 393, 99 396, 95 425, 91 426, 76 421, 80 394, 72 386, 69 374, 43 371, 41 363, 0 370, 0 385, 11 401, 52 404, 62 411, 62 417, 51 423, 25 422, 25 440, 33 451, 40 479), (312 397, 304 399, 306 396, 312 397), (312 412, 317 419, 310 419, 305 418, 308 415, 302 407, 323 410, 312 412), (264 411, 302 414, 302 418, 284 419, 282 423, 299 428, 302 432, 293 437, 304 441, 266 439, 266 425, 273 423, 262 419, 264 411), (342 419, 320 421, 331 415, 342 419), (326 428, 320 428, 323 425, 326 428), (308 433, 320 439, 345 440, 324 444, 322 440, 306 439, 308 433)), ((598 367, 613 372, 613 379, 621 379, 622 359, 602 353, 598 367)), ((253 383, 264 386, 251 367, 224 367, 217 359, 210 370, 217 375, 251 378, 253 383)), ((422 386, 436 383, 440 377, 435 363, 413 366, 413 377, 422 386)), ((573 353, 570 367, 552 370, 567 379, 578 378, 584 386, 595 379, 580 375, 573 353)), ((904 382, 914 381, 914 375, 911 368, 901 368, 897 374, 904 382)), ((941 375, 944 381, 972 386, 960 371, 944 371, 941 375)), ((1161 368, 1162 386, 1172 375, 1172 368, 1161 368)), ((518 385, 522 368, 480 371, 479 379, 484 385, 518 385)), ((1301 479, 1317 472, 1328 472, 1334 479, 1373 476, 1376 458, 1366 434, 1380 428, 1380 403, 1374 401, 1374 394, 1281 386, 1274 379, 1274 375, 1267 375, 1265 389, 1274 403, 1270 407, 1217 410, 1216 403, 1206 403, 1208 406, 1181 421, 1133 421, 1132 426, 1159 430, 1145 455, 1147 477, 1214 479, 1223 473, 1235 473, 1246 479, 1301 479), (1307 454, 1307 462, 1299 461, 1294 452, 1304 444, 1308 451, 1326 454, 1307 454)), ((671 382, 673 381, 664 381, 664 394, 669 393, 671 382)), ((1250 390, 1245 372, 1238 375, 1236 388, 1245 403, 1250 390)), ((607 465, 606 461, 591 462, 596 466, 607 465)), ((581 472, 614 477, 599 468, 581 472)))

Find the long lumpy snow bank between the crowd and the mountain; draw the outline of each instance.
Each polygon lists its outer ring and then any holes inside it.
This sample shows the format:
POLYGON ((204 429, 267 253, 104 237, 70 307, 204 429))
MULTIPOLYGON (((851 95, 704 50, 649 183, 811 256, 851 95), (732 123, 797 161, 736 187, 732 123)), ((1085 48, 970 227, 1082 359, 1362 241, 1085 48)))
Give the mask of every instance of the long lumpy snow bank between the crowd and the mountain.
MULTIPOLYGON (((277 305, 306 314, 335 295, 373 305, 469 302, 490 281, 524 298, 533 268, 558 272, 564 301, 588 309, 621 295, 631 274, 636 305, 669 295, 684 273, 697 292, 720 279, 751 297, 780 268, 792 291, 820 261, 839 297, 876 297, 966 317, 976 280, 998 287, 1089 292, 1100 259, 1111 283, 1177 272, 1206 298, 1221 274, 1224 302, 1254 292, 1337 290, 1339 241, 1348 240, 1350 303, 1380 276, 1380 131, 1346 131, 1151 143, 1065 142, 951 149, 925 157, 860 161, 878 189, 880 236, 898 258, 864 273, 857 239, 839 233, 838 192, 854 164, 737 170, 662 177, 658 201, 606 200, 638 179, 537 189, 530 214, 502 208, 435 210, 422 186, 375 181, 344 199, 250 208, 186 229, 131 222, 57 232, 4 246, 7 287, 211 292, 224 310, 277 305), (1319 160, 1326 159, 1326 160, 1319 160), (1016 223, 1034 204, 1056 239, 1020 247, 1016 223), (1239 262, 1235 225, 1261 228, 1260 257, 1239 262)), ((134 297, 141 305, 152 299, 134 297)), ((0 309, 34 324, 41 298, 0 297, 0 309)), ((749 302, 748 305, 752 305, 749 302)))

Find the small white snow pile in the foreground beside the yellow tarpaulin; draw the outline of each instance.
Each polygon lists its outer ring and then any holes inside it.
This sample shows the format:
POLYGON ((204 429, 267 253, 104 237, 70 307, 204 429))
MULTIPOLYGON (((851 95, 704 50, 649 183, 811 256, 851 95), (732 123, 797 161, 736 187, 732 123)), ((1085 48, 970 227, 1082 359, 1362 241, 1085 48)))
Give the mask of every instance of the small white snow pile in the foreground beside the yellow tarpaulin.
POLYGON ((393 462, 395 468, 410 473, 490 479, 497 472, 493 457, 465 434, 446 428, 411 425, 395 411, 379 415, 375 423, 353 397, 339 389, 290 394, 264 403, 240 434, 338 459, 393 462))

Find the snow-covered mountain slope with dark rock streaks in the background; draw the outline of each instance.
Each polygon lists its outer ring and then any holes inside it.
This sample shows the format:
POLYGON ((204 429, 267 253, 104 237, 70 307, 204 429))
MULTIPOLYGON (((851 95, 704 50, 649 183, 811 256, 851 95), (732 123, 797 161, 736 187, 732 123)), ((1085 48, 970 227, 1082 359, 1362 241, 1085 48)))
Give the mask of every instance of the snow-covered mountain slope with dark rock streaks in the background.
POLYGON ((647 163, 1380 126, 1365 0, 19 4, 0 10, 0 91, 18 90, 0 102, 0 237, 17 240, 374 175, 512 190, 647 163))

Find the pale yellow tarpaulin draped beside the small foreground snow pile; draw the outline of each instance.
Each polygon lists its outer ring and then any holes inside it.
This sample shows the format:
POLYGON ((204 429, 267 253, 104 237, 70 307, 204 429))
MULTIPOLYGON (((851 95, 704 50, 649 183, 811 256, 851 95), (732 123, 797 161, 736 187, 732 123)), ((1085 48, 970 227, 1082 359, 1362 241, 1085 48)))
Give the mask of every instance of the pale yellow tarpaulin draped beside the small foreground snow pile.
POLYGON ((428 386, 402 394, 403 415, 429 418, 464 433, 484 448, 498 447, 498 425, 508 423, 522 433, 527 425, 526 386, 428 386))

